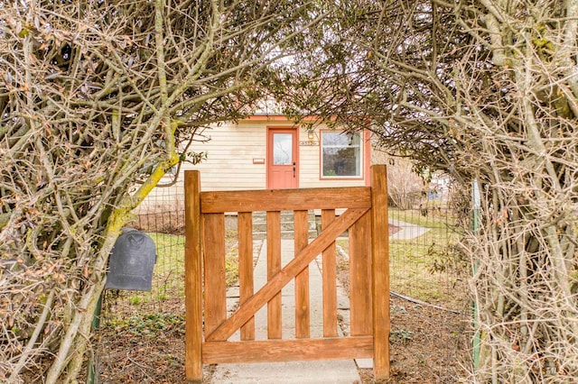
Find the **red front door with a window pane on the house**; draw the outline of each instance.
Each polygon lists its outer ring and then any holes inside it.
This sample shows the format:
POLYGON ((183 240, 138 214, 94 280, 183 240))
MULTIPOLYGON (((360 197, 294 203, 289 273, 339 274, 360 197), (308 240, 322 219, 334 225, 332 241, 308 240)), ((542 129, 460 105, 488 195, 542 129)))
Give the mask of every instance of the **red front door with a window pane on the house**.
POLYGON ((299 187, 297 140, 294 128, 267 130, 267 188, 299 187))

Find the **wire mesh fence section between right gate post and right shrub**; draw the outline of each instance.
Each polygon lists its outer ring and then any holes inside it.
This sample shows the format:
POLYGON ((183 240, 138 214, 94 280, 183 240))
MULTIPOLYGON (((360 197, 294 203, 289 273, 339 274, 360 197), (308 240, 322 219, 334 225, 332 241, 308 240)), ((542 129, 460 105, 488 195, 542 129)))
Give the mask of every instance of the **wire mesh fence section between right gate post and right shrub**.
POLYGON ((448 195, 403 201, 389 207, 392 373, 453 383, 471 365, 470 257, 459 245, 468 209, 448 195))

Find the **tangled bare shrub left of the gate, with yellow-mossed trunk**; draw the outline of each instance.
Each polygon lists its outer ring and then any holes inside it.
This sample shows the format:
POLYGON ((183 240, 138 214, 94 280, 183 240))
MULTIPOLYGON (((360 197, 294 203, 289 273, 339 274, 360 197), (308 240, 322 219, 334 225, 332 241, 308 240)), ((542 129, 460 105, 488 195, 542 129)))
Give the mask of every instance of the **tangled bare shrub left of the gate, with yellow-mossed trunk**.
POLYGON ((0 381, 77 379, 131 211, 264 96, 313 6, 0 3, 0 381))

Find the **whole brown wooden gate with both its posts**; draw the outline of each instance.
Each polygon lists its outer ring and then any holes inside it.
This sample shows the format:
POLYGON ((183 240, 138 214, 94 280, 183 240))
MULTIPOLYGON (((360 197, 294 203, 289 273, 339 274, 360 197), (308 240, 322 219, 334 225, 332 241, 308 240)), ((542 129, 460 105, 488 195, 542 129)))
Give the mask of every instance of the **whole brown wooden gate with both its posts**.
POLYGON ((200 192, 199 171, 185 172, 186 378, 202 364, 373 358, 389 376, 389 255, 386 166, 371 187, 200 192), (336 209, 346 210, 339 216, 336 209), (322 212, 322 233, 308 240, 307 210, 322 212), (252 213, 266 211, 266 285, 254 292, 252 213), (294 259, 281 268, 281 211, 294 211, 294 259), (240 305, 227 315, 225 213, 238 213, 240 305), (350 335, 339 337, 335 239, 349 230, 350 335), (309 332, 308 266, 322 254, 323 337, 309 332), (204 276, 204 281, 203 281, 204 276), (281 289, 294 279, 295 338, 281 333, 281 289), (203 300, 204 294, 204 300, 203 300), (267 305, 267 340, 255 340, 254 315, 267 305), (203 323, 204 314, 204 323, 203 323), (204 325, 204 329, 203 329, 204 325), (228 338, 240 329, 240 341, 228 338), (204 338, 203 338, 204 334, 204 338))

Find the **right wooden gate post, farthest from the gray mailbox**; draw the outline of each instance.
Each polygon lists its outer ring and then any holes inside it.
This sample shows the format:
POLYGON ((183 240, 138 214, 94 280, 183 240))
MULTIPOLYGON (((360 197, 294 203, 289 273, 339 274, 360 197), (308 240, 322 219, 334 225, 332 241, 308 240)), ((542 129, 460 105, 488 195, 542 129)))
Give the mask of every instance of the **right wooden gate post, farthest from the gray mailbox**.
POLYGON ((373 372, 389 378, 389 224, 387 167, 371 166, 371 260, 373 291, 373 372))

